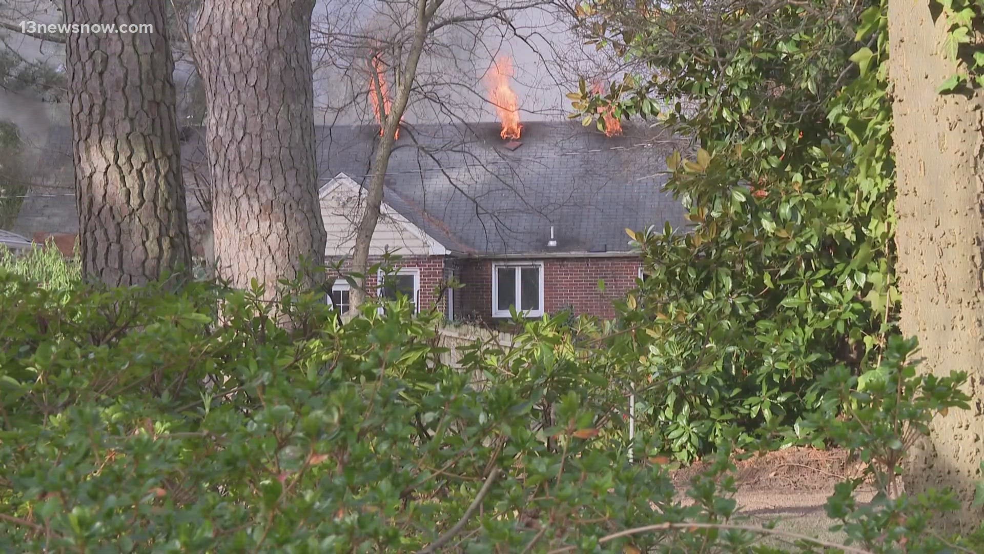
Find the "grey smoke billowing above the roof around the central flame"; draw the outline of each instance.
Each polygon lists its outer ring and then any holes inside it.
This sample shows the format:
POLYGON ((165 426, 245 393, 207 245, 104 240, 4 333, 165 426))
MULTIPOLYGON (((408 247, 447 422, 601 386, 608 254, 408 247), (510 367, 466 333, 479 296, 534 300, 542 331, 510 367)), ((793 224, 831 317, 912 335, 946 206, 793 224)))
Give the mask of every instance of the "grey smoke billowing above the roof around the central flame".
MULTIPOLYGON (((529 2, 532 3, 532 2, 529 2)), ((315 96, 318 123, 371 124, 367 62, 374 49, 405 59, 413 28, 413 0, 320 2, 315 12, 315 96)), ((495 121, 484 84, 492 61, 513 59, 513 89, 524 120, 563 120, 571 110, 565 97, 577 90, 579 73, 600 67, 598 55, 572 31, 570 15, 543 5, 509 11, 505 20, 467 21, 513 0, 447 0, 438 20, 464 23, 433 34, 421 57, 407 106, 408 123, 495 121)), ((392 79, 395 81, 395 79, 392 79)), ((396 90, 391 87, 391 91, 396 90)), ((395 94, 395 93, 394 93, 395 94)))

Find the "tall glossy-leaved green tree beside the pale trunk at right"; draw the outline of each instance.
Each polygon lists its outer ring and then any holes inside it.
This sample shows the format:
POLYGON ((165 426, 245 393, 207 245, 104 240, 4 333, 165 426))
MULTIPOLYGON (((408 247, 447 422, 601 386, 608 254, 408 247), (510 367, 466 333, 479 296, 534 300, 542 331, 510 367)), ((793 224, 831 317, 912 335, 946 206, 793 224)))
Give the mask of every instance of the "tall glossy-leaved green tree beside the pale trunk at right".
POLYGON ((695 374, 642 396, 653 448, 689 459, 731 425, 742 445, 778 432, 816 407, 819 374, 858 372, 893 332, 885 9, 861 4, 582 8, 635 71, 575 108, 614 105, 700 141, 667 160, 691 228, 630 234, 647 275, 625 319, 651 327, 636 380, 695 374))

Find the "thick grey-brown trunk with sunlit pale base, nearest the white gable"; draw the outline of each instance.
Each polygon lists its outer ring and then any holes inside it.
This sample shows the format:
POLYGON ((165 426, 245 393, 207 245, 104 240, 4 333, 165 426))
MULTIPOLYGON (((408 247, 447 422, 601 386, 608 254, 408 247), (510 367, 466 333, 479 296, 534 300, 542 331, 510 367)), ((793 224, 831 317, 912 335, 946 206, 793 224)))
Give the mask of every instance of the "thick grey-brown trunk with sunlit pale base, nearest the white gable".
POLYGON ((302 258, 320 264, 315 168, 314 0, 206 0, 193 52, 209 104, 218 276, 276 294, 302 258))

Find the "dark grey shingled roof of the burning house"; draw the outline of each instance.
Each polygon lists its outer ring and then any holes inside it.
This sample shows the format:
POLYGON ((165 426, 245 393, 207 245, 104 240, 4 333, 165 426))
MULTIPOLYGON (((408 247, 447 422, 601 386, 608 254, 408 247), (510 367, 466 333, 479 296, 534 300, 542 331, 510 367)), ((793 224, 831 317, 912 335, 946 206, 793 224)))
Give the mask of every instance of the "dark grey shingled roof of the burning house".
MULTIPOLYGON (((185 132, 189 167, 204 159, 203 134, 185 132)), ((320 183, 345 173, 368 184, 377 126, 319 127, 316 135, 320 183)), ((661 190, 665 158, 682 146, 666 130, 627 124, 622 136, 605 137, 577 121, 532 121, 520 142, 507 148, 498 123, 404 127, 385 201, 447 248, 484 255, 631 251, 625 228, 686 225, 680 203, 661 190), (551 226, 556 247, 547 246, 551 226)), ((74 197, 52 204, 26 201, 21 220, 41 217, 39 208, 49 220, 68 211, 63 227, 77 229, 74 197)))

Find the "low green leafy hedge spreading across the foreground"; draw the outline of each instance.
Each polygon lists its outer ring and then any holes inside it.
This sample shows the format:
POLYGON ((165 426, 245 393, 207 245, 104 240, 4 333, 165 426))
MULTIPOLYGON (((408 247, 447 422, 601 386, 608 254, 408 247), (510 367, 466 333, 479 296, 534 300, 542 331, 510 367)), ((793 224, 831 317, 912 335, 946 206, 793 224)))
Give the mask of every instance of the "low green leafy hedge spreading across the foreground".
POLYGON ((767 551, 727 448, 686 507, 662 460, 627 462, 619 358, 569 321, 454 369, 405 300, 340 324, 294 290, 288 331, 260 298, 0 275, 0 548, 767 551))

